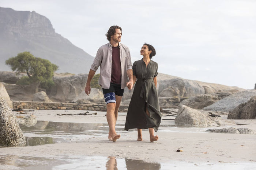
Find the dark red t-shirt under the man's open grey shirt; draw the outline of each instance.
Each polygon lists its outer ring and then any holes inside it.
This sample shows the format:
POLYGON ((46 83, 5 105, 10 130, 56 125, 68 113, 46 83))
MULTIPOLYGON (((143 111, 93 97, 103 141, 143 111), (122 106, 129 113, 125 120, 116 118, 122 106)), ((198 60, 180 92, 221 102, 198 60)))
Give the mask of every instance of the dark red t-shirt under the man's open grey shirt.
POLYGON ((121 61, 120 61, 120 48, 112 47, 112 72, 111 72, 111 83, 121 84, 121 61))

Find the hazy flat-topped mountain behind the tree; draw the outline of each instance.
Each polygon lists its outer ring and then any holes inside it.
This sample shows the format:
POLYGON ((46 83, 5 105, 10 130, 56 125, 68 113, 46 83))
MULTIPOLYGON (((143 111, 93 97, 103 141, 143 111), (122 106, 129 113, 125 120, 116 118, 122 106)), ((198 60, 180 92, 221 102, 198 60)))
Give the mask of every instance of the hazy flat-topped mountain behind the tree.
MULTIPOLYGON (((68 23, 67 23, 68 24, 68 23)), ((56 33, 50 20, 35 11, 0 7, 0 71, 5 60, 29 51, 59 66, 57 72, 88 73, 94 57, 56 33)))

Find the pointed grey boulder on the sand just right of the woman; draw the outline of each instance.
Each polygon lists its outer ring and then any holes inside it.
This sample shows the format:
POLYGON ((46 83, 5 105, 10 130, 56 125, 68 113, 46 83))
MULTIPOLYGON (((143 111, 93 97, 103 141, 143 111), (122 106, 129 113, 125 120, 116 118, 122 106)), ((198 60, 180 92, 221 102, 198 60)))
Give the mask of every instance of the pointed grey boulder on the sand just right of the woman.
MULTIPOLYGON (((203 110, 196 110, 187 106, 181 106, 177 112, 177 116, 174 122, 178 126, 189 127, 208 127, 208 126, 222 126, 222 125, 234 125, 233 121, 228 121, 219 118, 218 116, 211 116, 209 113, 203 110)), ((217 115, 215 113, 214 115, 217 115)))

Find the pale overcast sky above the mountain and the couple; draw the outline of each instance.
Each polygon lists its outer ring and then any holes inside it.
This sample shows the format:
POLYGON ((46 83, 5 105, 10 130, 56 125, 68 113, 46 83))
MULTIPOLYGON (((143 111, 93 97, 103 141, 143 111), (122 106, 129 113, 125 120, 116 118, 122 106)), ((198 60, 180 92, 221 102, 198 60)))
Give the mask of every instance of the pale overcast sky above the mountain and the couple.
POLYGON ((158 72, 245 89, 256 83, 256 0, 1 0, 0 7, 46 16, 92 56, 118 25, 132 62, 146 42, 158 72))

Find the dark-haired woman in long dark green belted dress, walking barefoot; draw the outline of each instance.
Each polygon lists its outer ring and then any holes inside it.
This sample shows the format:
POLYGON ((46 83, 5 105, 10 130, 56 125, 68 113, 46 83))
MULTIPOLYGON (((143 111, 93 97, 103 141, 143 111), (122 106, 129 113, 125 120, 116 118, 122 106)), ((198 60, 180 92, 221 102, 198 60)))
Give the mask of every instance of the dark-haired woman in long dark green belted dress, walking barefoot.
MULTIPOLYGON (((133 63, 133 84, 135 84, 131 102, 129 104, 125 130, 137 128, 138 141, 142 139, 142 129, 148 129, 150 141, 158 140, 154 136, 161 123, 161 113, 157 94, 157 70, 158 64, 151 60, 155 56, 155 48, 150 44, 144 44, 140 50, 143 59, 133 63)), ((130 87, 132 84, 127 84, 130 87)))

